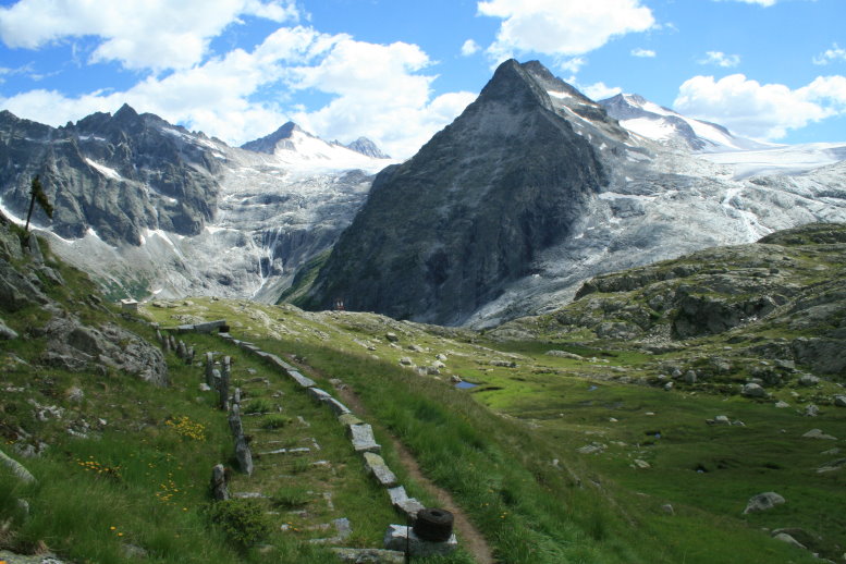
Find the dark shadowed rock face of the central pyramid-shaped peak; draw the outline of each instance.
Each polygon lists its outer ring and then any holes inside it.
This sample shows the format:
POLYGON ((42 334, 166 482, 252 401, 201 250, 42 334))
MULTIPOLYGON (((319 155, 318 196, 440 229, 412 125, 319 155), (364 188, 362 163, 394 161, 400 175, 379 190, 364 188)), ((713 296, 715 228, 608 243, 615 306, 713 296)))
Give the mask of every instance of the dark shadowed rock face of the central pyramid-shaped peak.
POLYGON ((377 176, 304 303, 343 296, 356 310, 459 323, 527 275, 605 182, 548 90, 583 98, 538 63, 503 63, 455 122, 377 176))

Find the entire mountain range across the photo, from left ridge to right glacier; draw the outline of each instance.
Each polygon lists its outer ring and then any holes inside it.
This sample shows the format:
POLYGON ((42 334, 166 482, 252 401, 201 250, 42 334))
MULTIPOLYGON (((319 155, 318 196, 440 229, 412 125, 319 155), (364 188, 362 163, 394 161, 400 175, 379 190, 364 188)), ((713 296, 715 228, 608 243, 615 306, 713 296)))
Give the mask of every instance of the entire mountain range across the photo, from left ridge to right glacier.
POLYGON ((274 302, 295 283, 311 308, 488 327, 596 274, 846 221, 844 158, 594 102, 512 60, 402 163, 293 123, 235 148, 128 106, 56 128, 3 111, 0 207, 25 217, 39 174, 56 214, 35 225, 114 297, 274 302))

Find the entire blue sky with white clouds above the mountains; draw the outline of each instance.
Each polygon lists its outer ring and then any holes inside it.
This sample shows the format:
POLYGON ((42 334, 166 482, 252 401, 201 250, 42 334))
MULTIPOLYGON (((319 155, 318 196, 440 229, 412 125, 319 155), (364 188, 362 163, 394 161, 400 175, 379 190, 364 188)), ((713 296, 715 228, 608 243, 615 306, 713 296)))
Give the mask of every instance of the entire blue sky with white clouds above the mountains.
POLYGON ((496 65, 740 136, 846 142, 846 0, 0 0, 0 109, 124 102, 230 145, 287 121, 407 158, 496 65))

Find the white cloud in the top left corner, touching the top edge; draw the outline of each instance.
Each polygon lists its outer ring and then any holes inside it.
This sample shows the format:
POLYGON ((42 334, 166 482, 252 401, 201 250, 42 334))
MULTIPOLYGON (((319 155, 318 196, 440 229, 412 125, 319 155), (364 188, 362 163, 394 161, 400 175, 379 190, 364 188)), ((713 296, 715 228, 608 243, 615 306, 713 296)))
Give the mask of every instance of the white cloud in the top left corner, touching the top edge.
POLYGON ((0 39, 36 49, 68 37, 96 36, 90 62, 119 61, 134 70, 188 69, 209 41, 240 16, 296 21, 292 0, 180 0, 69 2, 21 0, 0 8, 0 39))

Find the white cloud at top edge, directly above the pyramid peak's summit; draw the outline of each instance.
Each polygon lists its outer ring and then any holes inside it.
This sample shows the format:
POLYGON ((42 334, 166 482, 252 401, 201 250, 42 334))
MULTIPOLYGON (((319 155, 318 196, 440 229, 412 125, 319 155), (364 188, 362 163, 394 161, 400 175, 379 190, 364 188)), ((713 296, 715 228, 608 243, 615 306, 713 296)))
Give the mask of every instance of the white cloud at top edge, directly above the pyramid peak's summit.
POLYGON ((502 20, 496 40, 488 48, 496 61, 513 53, 584 54, 614 36, 655 24, 640 0, 488 0, 477 5, 479 14, 502 20))

